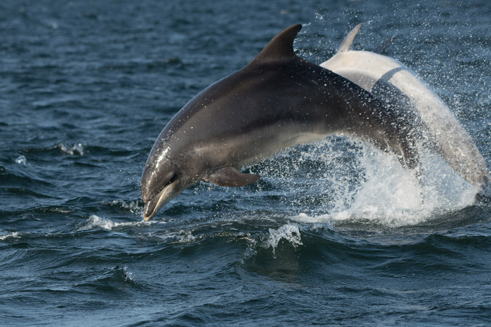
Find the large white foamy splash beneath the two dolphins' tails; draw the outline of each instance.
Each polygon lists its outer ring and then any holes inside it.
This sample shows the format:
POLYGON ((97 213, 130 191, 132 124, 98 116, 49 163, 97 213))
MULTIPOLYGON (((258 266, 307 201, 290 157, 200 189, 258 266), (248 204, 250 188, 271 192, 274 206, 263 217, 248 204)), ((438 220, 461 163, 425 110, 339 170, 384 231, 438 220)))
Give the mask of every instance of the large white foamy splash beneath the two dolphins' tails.
MULTIPOLYGON (((329 184, 325 203, 327 214, 300 214, 296 221, 327 223, 336 221, 371 222, 385 226, 414 225, 447 211, 455 211, 473 203, 476 187, 461 178, 439 156, 420 151, 421 174, 404 168, 395 155, 383 153, 363 143, 353 142, 360 151, 356 153, 361 180, 339 183, 339 176, 319 179, 329 184), (332 179, 329 179, 332 178, 332 179), (358 183, 358 185, 355 185, 358 183), (350 201, 346 201, 350 199, 350 201)), ((316 151, 303 154, 324 159, 316 151)), ((346 155, 346 153, 344 154, 346 155)), ((353 165, 353 163, 351 163, 353 165)), ((342 174, 350 174, 348 167, 338 167, 342 174)), ((323 190, 311 188, 312 190, 323 190)), ((307 190, 308 191, 308 190, 307 190)))

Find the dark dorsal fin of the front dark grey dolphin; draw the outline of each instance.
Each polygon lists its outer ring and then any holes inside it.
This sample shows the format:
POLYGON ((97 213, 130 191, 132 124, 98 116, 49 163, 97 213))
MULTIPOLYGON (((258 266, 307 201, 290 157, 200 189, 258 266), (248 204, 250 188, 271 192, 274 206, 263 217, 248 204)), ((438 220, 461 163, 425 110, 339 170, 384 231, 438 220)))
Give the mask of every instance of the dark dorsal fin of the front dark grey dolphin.
POLYGON ((258 61, 275 61, 296 56, 293 51, 293 40, 295 40, 300 29, 302 29, 302 25, 292 25, 276 34, 251 63, 258 61))

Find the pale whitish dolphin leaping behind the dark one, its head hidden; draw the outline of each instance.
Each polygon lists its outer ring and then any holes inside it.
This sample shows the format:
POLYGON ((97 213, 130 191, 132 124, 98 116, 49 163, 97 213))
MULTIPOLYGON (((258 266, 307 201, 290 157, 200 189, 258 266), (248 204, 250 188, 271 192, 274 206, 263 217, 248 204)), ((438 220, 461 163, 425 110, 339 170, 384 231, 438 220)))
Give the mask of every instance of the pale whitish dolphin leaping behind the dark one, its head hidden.
POLYGON ((471 184, 489 187, 488 167, 469 134, 409 68, 378 53, 349 50, 360 28, 361 24, 355 26, 321 67, 348 78, 391 106, 412 107, 423 123, 420 127, 425 138, 442 158, 471 184))

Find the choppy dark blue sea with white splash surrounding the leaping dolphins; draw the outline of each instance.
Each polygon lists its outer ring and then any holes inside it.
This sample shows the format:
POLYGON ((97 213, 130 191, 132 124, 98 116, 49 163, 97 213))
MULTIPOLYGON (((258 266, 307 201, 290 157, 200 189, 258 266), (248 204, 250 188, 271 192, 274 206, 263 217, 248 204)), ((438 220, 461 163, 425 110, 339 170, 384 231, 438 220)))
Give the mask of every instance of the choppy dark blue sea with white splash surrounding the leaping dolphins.
POLYGON ((489 166, 490 2, 385 2, 1 1, 0 324, 489 325, 491 207, 431 153, 332 137, 141 219, 165 124, 297 23, 316 63, 397 34, 489 166))

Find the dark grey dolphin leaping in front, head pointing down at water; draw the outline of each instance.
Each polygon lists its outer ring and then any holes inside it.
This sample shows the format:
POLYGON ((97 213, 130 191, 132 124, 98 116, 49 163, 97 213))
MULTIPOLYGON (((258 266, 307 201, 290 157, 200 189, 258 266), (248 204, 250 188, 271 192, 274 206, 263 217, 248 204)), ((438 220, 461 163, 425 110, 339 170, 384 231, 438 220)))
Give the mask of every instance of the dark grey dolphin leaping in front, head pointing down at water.
POLYGON ((300 29, 281 31, 245 68, 204 89, 168 122, 141 177, 145 221, 201 180, 251 184, 260 176, 240 169, 332 134, 361 138, 415 167, 417 117, 296 55, 300 29))

